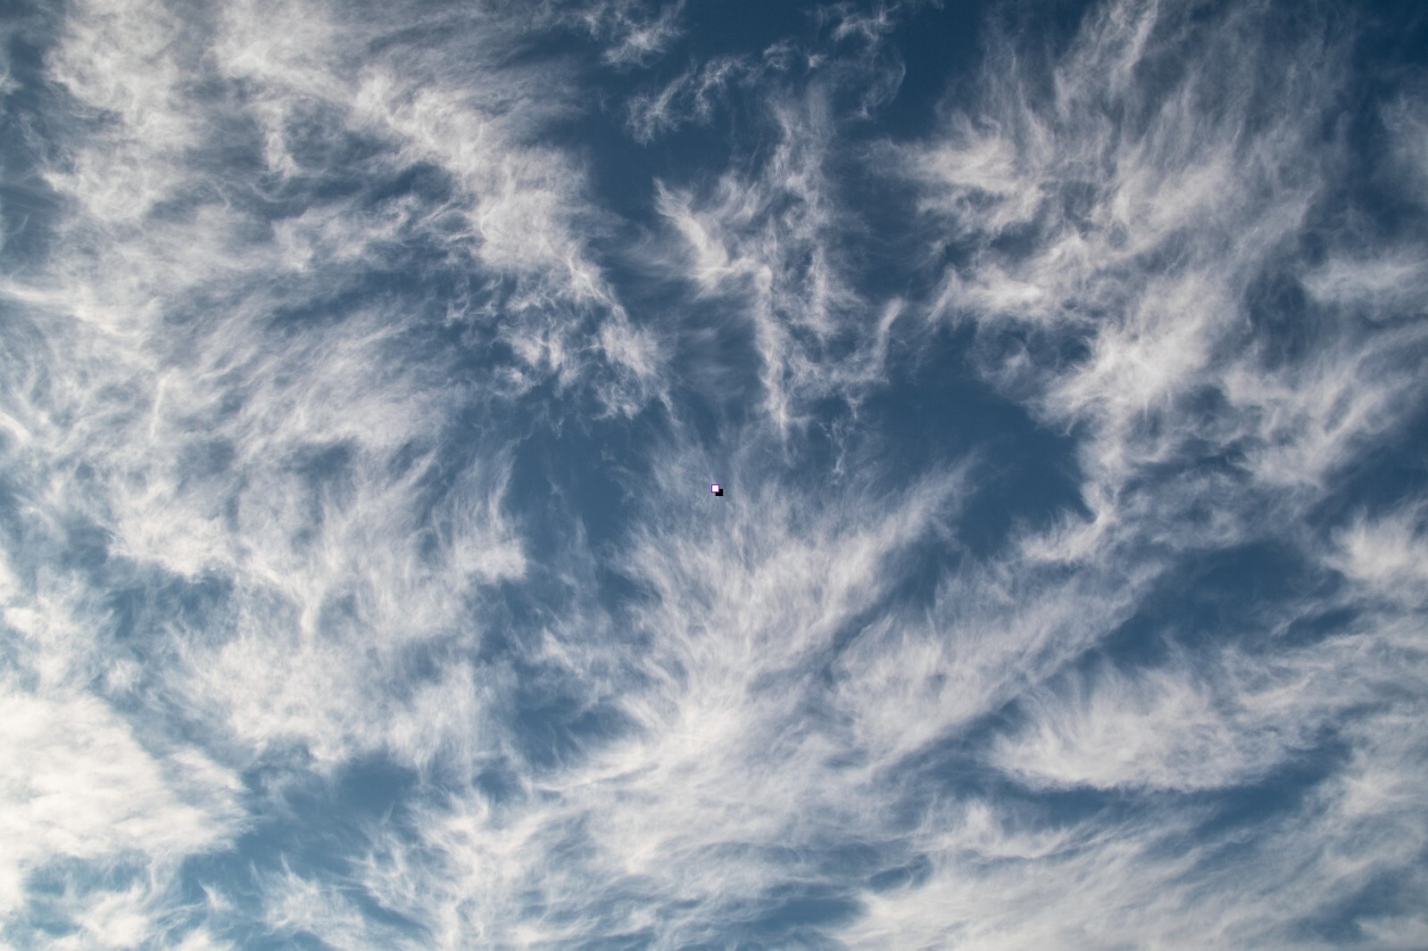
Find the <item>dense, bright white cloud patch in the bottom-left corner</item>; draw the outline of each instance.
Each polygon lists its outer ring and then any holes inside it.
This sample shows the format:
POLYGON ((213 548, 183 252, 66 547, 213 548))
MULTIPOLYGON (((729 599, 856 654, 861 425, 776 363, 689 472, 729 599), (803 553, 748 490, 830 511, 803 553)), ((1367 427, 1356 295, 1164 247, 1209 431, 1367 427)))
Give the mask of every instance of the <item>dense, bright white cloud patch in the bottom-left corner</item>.
POLYGON ((60 875, 70 880, 61 918, 87 935, 73 947, 147 940, 181 862, 230 848, 243 828, 238 777, 191 747, 146 750, 124 718, 91 695, 31 693, 7 677, 0 711, 6 917, 21 927, 43 921, 44 891, 31 892, 29 882, 60 875), (76 862, 111 871, 76 874, 76 862), (117 870, 137 884, 106 890, 117 870))

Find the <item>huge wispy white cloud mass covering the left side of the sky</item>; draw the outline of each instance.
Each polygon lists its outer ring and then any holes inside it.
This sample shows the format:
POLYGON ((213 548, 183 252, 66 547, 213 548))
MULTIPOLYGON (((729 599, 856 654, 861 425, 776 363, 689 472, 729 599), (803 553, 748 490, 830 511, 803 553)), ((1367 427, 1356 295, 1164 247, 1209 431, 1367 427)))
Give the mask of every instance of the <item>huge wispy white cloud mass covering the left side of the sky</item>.
POLYGON ((3 901, 70 862, 80 898, 51 911, 76 947, 223 947, 170 928, 169 888, 247 828, 237 770, 263 757, 486 755, 504 681, 471 671, 471 607, 527 553, 504 437, 448 473, 453 427, 550 374, 628 413, 657 390, 657 347, 585 253, 580 163, 536 141, 570 71, 504 64, 518 27, 497 14, 404 43, 408 13, 116 1, 54 20, 63 109, 36 161, 60 240, 3 278, 3 901), (436 201, 401 186, 423 168, 436 201), (324 191, 351 173, 394 197, 324 191), (437 268, 373 290, 413 244, 437 268), (454 311, 420 287, 453 276, 473 298, 454 311), (457 377, 436 338, 490 324, 528 360, 457 377), (180 607, 204 585, 213 604, 180 607), (424 651, 464 665, 413 677, 424 651), (94 891, 114 867, 159 884, 94 891))

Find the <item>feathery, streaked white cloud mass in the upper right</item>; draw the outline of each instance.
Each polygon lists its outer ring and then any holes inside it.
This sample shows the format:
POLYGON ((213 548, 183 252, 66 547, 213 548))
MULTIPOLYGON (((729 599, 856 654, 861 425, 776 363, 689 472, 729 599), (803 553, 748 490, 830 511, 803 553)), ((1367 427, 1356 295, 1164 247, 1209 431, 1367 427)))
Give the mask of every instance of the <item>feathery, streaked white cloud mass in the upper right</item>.
MULTIPOLYGON (((1317 484, 1361 434, 1384 431, 1385 407, 1402 406, 1411 386, 1407 366, 1382 363, 1378 347, 1417 348, 1417 328, 1388 344, 1325 316, 1294 331, 1318 354, 1305 366, 1278 361, 1267 334, 1281 324, 1258 323, 1275 304, 1255 303, 1255 281, 1292 261, 1348 161, 1344 141, 1322 139, 1315 120, 1338 109, 1344 49, 1315 24, 1250 53, 1267 16, 1251 4, 1194 21, 1108 4, 1045 64, 1002 37, 978 110, 950 113, 942 136, 902 153, 925 184, 924 211, 947 223, 941 240, 961 261, 948 268, 938 313, 975 321, 988 376, 1030 387, 1045 418, 1094 428, 1084 464, 1107 487, 1182 454, 1170 434, 1262 447, 1252 451, 1274 478, 1317 484), (1185 56, 1198 66, 1172 64, 1185 56), (1271 61, 1279 66, 1261 70, 1271 61), (1312 73, 1299 69, 1308 61, 1312 73), (1021 333, 1014 327, 1032 333, 1040 353, 1001 356, 992 341, 1021 333), (1067 347, 1084 356, 1051 363, 1067 347), (1362 408, 1335 423, 1298 420, 1295 434, 1279 428, 1314 387, 1362 408), (1201 411, 1207 394, 1228 406, 1201 411)), ((1309 287, 1368 303, 1372 281, 1385 280, 1374 268, 1411 274, 1394 260, 1335 261, 1309 287)), ((1385 316, 1414 306, 1409 287, 1379 296, 1385 316)))

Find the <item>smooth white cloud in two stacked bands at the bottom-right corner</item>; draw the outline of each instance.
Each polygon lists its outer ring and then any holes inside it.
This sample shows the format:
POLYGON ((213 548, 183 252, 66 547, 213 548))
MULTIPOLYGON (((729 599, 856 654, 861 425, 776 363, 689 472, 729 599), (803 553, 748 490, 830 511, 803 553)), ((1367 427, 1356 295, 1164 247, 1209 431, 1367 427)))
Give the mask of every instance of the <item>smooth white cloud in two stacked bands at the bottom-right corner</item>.
POLYGON ((997 765, 1038 787, 1154 791, 1131 800, 1138 818, 1098 810, 1058 822, 980 800, 928 810, 905 840, 924 871, 868 895, 843 937, 858 947, 1338 947, 1302 922, 1377 877, 1398 891, 1391 911, 1365 915, 1358 944, 1411 942, 1425 830, 1409 818, 1421 797, 1404 781, 1424 750, 1402 725, 1422 713, 1421 661, 1385 625, 1268 663, 1238 655, 1194 673, 1072 678, 1034 704, 1031 731, 997 747, 997 765), (1349 761, 1298 801, 1261 800, 1269 818, 1207 824, 1205 800, 1167 797, 1254 784, 1324 730, 1338 731, 1349 761))

